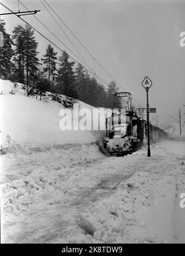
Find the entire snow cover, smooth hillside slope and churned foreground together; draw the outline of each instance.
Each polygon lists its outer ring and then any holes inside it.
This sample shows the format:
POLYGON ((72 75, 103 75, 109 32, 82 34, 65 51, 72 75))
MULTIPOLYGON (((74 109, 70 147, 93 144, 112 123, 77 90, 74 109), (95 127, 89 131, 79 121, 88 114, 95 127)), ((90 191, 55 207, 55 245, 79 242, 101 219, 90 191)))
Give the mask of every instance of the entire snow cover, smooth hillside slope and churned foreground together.
POLYGON ((107 157, 104 133, 61 131, 61 104, 12 89, 0 80, 2 243, 185 242, 184 141, 107 157))

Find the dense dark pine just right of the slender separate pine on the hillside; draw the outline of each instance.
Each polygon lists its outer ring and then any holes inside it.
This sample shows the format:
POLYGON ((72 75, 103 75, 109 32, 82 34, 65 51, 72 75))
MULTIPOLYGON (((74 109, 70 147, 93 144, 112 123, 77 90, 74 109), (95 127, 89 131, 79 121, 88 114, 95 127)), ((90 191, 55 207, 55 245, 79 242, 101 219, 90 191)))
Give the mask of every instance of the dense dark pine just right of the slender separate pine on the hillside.
POLYGON ((74 62, 68 61, 68 54, 64 51, 59 57, 59 71, 57 76, 57 87, 61 94, 73 97, 78 96, 75 86, 75 74, 73 71, 74 62))

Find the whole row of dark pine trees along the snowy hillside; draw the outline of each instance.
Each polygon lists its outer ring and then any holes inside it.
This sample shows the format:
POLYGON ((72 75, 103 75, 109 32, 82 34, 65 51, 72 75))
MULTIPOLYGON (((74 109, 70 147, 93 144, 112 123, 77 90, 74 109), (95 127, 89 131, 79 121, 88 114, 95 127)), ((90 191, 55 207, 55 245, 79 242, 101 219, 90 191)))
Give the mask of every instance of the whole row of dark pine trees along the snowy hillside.
POLYGON ((50 91, 94 107, 113 108, 113 94, 118 90, 114 81, 105 88, 81 64, 70 61, 65 51, 57 58, 51 45, 47 45, 39 60, 34 30, 28 25, 17 25, 10 37, 4 20, 0 19, 0 32, 4 35, 4 46, 0 46, 0 77, 24 84, 27 96, 36 95, 41 100, 50 91))

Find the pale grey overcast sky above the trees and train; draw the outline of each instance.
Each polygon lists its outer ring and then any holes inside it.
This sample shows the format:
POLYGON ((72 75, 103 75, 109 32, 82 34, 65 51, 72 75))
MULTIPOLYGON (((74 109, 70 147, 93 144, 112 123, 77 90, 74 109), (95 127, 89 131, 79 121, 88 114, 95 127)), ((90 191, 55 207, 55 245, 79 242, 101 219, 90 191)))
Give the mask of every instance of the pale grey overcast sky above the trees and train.
MULTIPOLYGON (((39 0, 20 1, 30 10, 41 10, 36 17, 76 53, 39 0)), ((179 45, 179 33, 185 31, 185 1, 46 1, 120 84, 120 91, 131 92, 134 99, 145 105, 146 92, 141 86, 141 81, 144 76, 152 79, 149 102, 150 107, 157 107, 157 114, 151 114, 151 119, 158 115, 158 123, 163 123, 170 120, 168 115, 176 113, 178 117, 179 108, 183 110, 185 104, 185 47, 179 45)), ((18 10, 17 0, 2 2, 13 11, 18 10)), ((20 11, 25 11, 21 4, 20 11)), ((0 7, 0 12, 7 11, 0 7)), ((5 15, 3 19, 9 33, 15 25, 23 25, 15 15, 5 15)), ((23 19, 73 56, 32 15, 23 16, 23 19)), ((64 25, 60 25, 68 33, 64 25)), ((38 51, 43 55, 48 42, 37 33, 35 35, 39 42, 38 51)), ((70 33, 68 36, 93 68, 92 58, 70 33)), ((57 49, 56 51, 59 52, 57 49)), ((58 56, 60 55, 59 52, 58 56)), ((111 80, 97 64, 95 69, 106 81, 111 80)))

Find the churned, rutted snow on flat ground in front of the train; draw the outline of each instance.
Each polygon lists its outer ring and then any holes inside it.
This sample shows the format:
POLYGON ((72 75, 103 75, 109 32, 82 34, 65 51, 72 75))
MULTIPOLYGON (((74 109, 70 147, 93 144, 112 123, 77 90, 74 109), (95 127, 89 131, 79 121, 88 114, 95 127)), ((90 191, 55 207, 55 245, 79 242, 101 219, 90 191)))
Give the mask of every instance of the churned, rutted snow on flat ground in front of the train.
POLYGON ((105 157, 95 144, 3 155, 2 242, 185 242, 184 149, 163 141, 150 158, 146 148, 105 157))

